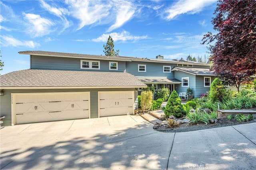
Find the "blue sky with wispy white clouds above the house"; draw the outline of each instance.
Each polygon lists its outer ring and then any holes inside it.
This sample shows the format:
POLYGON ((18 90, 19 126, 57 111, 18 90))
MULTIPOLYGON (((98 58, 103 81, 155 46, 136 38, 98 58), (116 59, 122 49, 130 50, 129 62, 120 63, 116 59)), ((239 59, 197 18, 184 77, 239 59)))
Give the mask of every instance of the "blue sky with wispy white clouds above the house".
POLYGON ((120 56, 186 59, 206 53, 216 0, 1 0, 1 74, 30 68, 19 51, 104 55, 108 36, 120 56))

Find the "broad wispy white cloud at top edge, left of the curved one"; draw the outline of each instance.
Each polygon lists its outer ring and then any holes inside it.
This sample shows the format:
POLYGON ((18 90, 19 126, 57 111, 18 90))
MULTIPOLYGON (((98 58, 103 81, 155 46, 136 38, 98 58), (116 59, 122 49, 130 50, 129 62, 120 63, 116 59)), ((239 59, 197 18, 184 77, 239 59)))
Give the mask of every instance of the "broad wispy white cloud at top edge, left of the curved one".
POLYGON ((77 30, 85 25, 100 23, 102 18, 109 15, 111 8, 110 5, 103 4, 101 1, 66 0, 65 2, 70 5, 70 14, 80 20, 77 30))

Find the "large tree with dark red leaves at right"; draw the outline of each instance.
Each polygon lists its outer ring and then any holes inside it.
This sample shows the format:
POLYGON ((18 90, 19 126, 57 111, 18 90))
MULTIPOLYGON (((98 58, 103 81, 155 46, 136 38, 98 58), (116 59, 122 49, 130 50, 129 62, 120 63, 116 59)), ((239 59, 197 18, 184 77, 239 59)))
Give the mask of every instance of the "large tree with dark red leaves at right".
POLYGON ((256 1, 220 0, 214 15, 217 33, 205 34, 202 44, 209 45, 216 74, 239 92, 240 85, 256 74, 256 1))

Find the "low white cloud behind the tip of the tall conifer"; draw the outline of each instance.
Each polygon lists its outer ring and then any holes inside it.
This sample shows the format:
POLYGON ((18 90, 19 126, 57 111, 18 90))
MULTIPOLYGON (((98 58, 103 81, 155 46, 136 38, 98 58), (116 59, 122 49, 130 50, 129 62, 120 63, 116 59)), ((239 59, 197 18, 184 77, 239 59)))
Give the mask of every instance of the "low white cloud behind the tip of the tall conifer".
POLYGON ((133 36, 130 35, 129 32, 123 31, 121 33, 110 33, 110 34, 102 34, 100 37, 96 39, 92 39, 94 42, 107 42, 109 35, 112 37, 113 41, 137 41, 140 39, 149 39, 147 35, 144 36, 133 36))

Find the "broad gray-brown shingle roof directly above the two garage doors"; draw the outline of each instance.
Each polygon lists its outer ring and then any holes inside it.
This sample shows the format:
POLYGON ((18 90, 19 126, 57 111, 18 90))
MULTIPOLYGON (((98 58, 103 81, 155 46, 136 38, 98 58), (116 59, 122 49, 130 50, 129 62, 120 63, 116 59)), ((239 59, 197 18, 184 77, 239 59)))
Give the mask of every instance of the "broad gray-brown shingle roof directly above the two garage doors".
POLYGON ((4 87, 139 87, 146 85, 126 72, 21 70, 0 76, 4 87))

